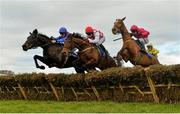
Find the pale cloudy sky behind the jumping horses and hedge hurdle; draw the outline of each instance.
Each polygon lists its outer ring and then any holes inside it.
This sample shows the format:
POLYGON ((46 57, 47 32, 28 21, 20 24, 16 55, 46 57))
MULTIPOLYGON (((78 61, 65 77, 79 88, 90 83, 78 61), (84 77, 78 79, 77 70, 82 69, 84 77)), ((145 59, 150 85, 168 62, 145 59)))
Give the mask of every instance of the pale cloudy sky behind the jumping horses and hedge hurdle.
MULTIPOLYGON (((15 73, 75 73, 73 68, 35 67, 33 56, 42 49, 22 50, 22 44, 35 28, 47 36, 57 37, 61 26, 70 32, 84 34, 87 25, 101 30, 103 45, 111 56, 122 47, 121 37, 111 29, 117 18, 126 27, 137 25, 150 31, 150 43, 157 48, 164 65, 180 64, 180 1, 179 0, 0 0, 0 69, 15 73)), ((42 64, 41 62, 39 62, 42 64)), ((125 67, 132 67, 125 63, 125 67)))

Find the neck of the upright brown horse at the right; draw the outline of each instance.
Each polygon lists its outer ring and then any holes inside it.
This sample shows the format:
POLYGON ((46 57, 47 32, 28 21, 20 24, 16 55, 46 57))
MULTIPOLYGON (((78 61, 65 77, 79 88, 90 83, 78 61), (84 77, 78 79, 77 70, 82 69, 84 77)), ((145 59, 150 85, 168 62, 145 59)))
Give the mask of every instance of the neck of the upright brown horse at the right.
POLYGON ((121 30, 123 42, 131 39, 131 35, 129 34, 129 32, 128 32, 126 26, 124 25, 124 23, 122 23, 122 26, 121 26, 120 30, 121 30))

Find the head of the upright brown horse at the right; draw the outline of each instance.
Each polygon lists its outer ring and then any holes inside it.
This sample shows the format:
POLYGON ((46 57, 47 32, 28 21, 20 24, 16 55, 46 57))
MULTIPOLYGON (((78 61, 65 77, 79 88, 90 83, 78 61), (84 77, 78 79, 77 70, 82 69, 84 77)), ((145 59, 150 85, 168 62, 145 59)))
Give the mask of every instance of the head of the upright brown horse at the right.
POLYGON ((123 21, 126 19, 126 17, 122 18, 122 19, 116 19, 116 21, 114 22, 114 26, 112 28, 112 33, 113 34, 120 34, 121 33, 121 27, 123 25, 123 21))

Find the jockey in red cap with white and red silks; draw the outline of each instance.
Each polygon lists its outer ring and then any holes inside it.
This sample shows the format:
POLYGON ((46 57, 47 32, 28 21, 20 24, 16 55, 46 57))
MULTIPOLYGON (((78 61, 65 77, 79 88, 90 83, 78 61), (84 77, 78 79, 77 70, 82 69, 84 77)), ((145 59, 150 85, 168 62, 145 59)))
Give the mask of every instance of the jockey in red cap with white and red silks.
POLYGON ((105 36, 100 30, 87 26, 85 32, 89 43, 96 44, 100 49, 102 49, 103 52, 105 52, 105 55, 109 55, 108 51, 102 45, 102 43, 105 41, 105 36))

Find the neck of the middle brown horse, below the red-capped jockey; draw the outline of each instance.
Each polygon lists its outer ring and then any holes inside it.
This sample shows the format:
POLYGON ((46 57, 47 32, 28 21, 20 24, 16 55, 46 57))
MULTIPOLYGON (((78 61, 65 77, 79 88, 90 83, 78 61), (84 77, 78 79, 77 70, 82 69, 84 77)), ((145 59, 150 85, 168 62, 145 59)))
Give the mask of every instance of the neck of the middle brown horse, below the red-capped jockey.
POLYGON ((90 47, 91 45, 88 42, 85 42, 83 39, 73 38, 73 42, 76 48, 83 50, 90 47))

